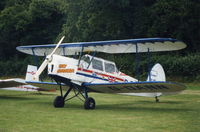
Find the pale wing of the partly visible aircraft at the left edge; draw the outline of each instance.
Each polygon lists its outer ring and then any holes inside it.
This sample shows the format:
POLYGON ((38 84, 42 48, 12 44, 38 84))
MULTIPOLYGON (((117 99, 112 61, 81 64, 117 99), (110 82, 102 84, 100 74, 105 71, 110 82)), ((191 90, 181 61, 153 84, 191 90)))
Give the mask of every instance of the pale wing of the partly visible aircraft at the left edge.
POLYGON ((17 87, 20 85, 25 85, 25 81, 22 79, 6 79, 0 80, 0 88, 17 87))

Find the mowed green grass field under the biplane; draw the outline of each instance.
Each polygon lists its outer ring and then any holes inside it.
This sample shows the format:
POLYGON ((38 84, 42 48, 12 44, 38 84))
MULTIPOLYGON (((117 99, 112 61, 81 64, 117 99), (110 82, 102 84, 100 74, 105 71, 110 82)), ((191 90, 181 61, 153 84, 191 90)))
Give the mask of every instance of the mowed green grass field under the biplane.
POLYGON ((90 93, 96 109, 75 98, 54 108, 56 93, 0 91, 0 132, 198 132, 200 85, 154 98, 90 93))

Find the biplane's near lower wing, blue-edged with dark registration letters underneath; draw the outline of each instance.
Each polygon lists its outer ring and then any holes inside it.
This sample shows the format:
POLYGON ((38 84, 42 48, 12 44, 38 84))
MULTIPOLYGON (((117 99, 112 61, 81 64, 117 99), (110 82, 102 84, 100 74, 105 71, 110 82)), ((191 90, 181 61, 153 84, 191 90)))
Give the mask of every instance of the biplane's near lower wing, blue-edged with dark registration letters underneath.
POLYGON ((180 92, 186 87, 172 82, 85 83, 90 91, 101 93, 154 93, 180 92))

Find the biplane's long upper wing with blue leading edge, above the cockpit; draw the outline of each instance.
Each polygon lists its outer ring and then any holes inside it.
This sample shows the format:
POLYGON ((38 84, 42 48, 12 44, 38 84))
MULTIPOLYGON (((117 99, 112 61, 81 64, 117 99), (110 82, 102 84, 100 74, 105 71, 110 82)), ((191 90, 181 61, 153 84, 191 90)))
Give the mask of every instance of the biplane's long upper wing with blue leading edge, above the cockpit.
MULTIPOLYGON (((18 46, 20 52, 46 56, 52 52, 56 44, 18 46)), ((63 43, 59 46, 56 54, 75 55, 77 52, 97 51, 104 53, 139 53, 180 50, 186 44, 172 38, 142 38, 95 42, 63 43), (83 48, 82 48, 83 47, 83 48)))

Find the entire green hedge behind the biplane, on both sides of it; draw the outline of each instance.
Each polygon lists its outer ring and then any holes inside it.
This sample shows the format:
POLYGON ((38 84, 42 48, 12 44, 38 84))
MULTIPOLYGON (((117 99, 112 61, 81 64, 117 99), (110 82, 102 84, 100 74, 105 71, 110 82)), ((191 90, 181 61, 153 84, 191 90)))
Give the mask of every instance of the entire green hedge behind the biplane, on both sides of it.
MULTIPOLYGON (((98 54, 97 56, 114 61, 120 71, 136 77, 135 54, 98 54)), ((139 72, 142 80, 147 78, 147 58, 147 54, 140 55, 139 72)), ((43 58, 39 58, 39 65, 42 60, 43 58)), ((200 81, 200 53, 153 53, 151 55, 151 67, 155 63, 160 63, 163 66, 169 79, 178 78, 183 81, 200 81)), ((7 61, 0 61, 0 77, 24 76, 28 64, 35 64, 32 56, 25 59, 13 58, 7 61)))

